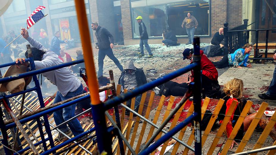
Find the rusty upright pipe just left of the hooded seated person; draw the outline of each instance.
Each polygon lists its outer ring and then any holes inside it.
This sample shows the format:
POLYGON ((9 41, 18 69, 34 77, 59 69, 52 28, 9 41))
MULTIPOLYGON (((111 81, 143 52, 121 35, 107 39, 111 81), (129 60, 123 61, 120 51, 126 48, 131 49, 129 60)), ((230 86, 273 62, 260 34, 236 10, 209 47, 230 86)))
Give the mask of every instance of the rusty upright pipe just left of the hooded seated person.
MULTIPOLYGON (((115 82, 114 82, 114 76, 113 76, 113 71, 109 70, 109 77, 110 77, 110 83, 112 84, 112 95, 113 96, 117 96, 117 92, 116 92, 116 87, 115 87, 115 82)), ((120 130, 120 132, 122 131, 121 129, 121 123, 120 123, 120 114, 119 114, 119 109, 118 109, 118 105, 114 106, 114 111, 115 111, 115 119, 116 119, 116 125, 118 127, 118 129, 120 130)), ((112 120, 113 121, 113 120, 112 120)), ((124 150, 124 143, 122 140, 121 136, 118 136, 118 141, 119 141, 119 147, 120 147, 120 153, 121 155, 125 154, 125 150, 124 150)))

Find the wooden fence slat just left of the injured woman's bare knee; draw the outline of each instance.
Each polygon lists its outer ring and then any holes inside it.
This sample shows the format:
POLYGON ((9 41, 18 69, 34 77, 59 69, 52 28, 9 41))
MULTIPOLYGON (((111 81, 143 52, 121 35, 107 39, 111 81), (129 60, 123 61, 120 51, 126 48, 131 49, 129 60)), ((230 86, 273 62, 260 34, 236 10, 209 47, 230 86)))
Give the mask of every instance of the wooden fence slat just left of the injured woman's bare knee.
MULTIPOLYGON (((227 154, 229 147, 232 144, 232 141, 234 140, 234 138, 236 137, 241 125, 243 124, 244 118, 246 117, 248 111, 251 108, 251 105, 253 104, 253 102, 251 101, 247 101, 246 105, 244 106, 238 120, 237 123, 235 124, 230 136, 228 137, 228 140, 226 141, 225 145, 223 146, 222 152, 221 154, 227 154)), ((276 116, 276 115, 275 115, 276 116)))

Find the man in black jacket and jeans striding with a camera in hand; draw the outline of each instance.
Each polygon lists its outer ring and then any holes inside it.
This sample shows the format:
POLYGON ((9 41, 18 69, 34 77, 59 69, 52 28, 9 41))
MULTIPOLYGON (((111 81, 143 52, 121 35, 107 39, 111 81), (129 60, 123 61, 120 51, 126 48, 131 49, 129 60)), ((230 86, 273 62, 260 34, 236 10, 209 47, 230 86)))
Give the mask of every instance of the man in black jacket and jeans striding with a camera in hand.
POLYGON ((120 64, 119 60, 114 56, 112 48, 113 48, 113 36, 112 34, 105 28, 98 25, 97 22, 91 24, 92 29, 95 31, 95 36, 98 41, 98 77, 103 76, 103 67, 104 67, 104 57, 107 55, 120 69, 121 72, 124 71, 123 66, 120 64), (110 38, 110 41, 109 41, 110 38))

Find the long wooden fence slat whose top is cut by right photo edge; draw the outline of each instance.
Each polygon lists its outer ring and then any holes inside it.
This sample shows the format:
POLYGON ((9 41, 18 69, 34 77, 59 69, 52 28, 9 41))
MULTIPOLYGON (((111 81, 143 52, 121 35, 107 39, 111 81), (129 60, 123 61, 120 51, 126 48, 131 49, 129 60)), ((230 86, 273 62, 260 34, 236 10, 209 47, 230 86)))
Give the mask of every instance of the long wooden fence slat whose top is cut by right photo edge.
MULTIPOLYGON (((273 114, 273 116, 269 120, 268 124, 264 128, 264 131, 262 132, 261 136, 259 137, 259 139, 258 139, 257 143, 255 144, 253 150, 261 148, 263 146, 264 141, 266 140, 266 137, 269 136, 269 133, 271 132, 271 130, 274 130, 273 126, 274 126, 275 123, 276 123, 276 113, 273 114)), ((257 153, 252 154, 252 155, 257 155, 257 153)))

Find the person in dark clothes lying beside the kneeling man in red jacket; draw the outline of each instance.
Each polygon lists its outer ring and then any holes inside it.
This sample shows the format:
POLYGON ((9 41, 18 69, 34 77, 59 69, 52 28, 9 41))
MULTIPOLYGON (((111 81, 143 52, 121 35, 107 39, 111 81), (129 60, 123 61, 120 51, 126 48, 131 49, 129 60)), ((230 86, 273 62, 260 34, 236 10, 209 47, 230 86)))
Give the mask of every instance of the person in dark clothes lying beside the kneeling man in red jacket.
MULTIPOLYGON (((149 83, 149 82, 156 80, 165 75, 166 75, 166 73, 162 73, 156 78, 155 77, 147 78, 147 82, 149 83)), ((184 96, 184 94, 186 93, 188 88, 189 88, 189 86, 186 82, 185 83, 177 83, 177 82, 173 82, 173 81, 168 81, 166 83, 163 83, 160 86, 154 87, 153 91, 155 92, 155 94, 164 95, 164 96, 170 96, 170 95, 184 96)))

